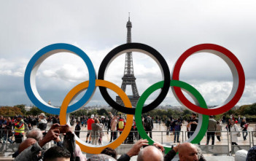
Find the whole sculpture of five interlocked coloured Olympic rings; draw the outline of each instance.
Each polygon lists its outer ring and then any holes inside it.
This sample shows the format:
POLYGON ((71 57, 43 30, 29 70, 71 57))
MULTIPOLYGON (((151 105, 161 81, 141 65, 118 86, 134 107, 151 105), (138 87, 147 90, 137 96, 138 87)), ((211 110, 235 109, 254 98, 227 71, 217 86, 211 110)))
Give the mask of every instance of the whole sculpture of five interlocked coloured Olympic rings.
MULTIPOLYGON (((82 106, 85 106, 86 103, 88 103, 88 101, 90 101, 90 98, 93 96, 96 87, 99 87, 101 95, 103 96, 104 100, 107 103, 109 103, 110 106, 112 106, 114 109, 117 109, 117 111, 121 111, 127 114, 127 122, 123 133, 115 141, 113 141, 111 144, 107 144, 106 146, 88 146, 88 144, 86 144, 85 141, 82 141, 77 136, 75 136, 76 142, 77 144, 79 144, 83 152, 87 152, 90 154, 98 154, 101 153, 101 151, 106 147, 111 147, 115 149, 117 148, 117 146, 122 144, 123 141, 125 141, 125 138, 127 138, 128 134, 131 131, 131 126, 133 124, 133 114, 135 115, 136 126, 138 128, 139 135, 141 136, 141 138, 147 138, 149 144, 153 144, 154 141, 152 141, 152 139, 149 136, 147 136, 147 133, 144 131, 144 127, 141 121, 141 114, 151 111, 152 109, 155 109, 158 105, 160 105, 163 99, 166 98, 170 86, 171 90, 174 93, 174 96, 177 98, 179 103, 187 107, 187 109, 190 109, 198 113, 198 126, 196 127, 193 136, 191 136, 187 140, 187 142, 191 142, 193 144, 199 143, 206 133, 209 122, 209 115, 222 114, 225 111, 230 110, 239 101, 241 95, 244 92, 245 76, 244 69, 242 68, 241 63, 236 58, 236 56, 233 55, 233 53, 229 50, 217 44, 198 44, 186 50, 179 57, 177 63, 175 63, 174 65, 172 74, 170 74, 166 60, 163 58, 162 55, 160 55, 160 53, 157 50, 146 44, 128 43, 115 47, 115 49, 113 49, 106 55, 98 70, 97 79, 93 63, 91 62, 90 58, 88 57, 88 55, 86 55, 85 52, 80 50, 78 47, 75 47, 74 45, 59 43, 50 44, 49 46, 44 47, 38 52, 36 52, 36 54, 28 62, 28 66, 26 67, 24 75, 24 85, 28 98, 30 98, 31 102, 34 103, 34 105, 42 111, 46 111, 50 114, 59 114, 61 125, 69 124, 69 113, 78 110, 82 106), (46 58, 58 52, 71 52, 75 55, 78 55, 80 58, 82 58, 82 60, 85 61, 85 64, 88 67, 89 71, 89 80, 80 83, 72 90, 70 90, 70 92, 66 95, 66 97, 63 100, 61 109, 56 108, 54 106, 50 106, 45 101, 43 101, 43 99, 40 97, 39 93, 36 90, 35 82, 36 71, 39 68, 40 64, 46 58), (163 74, 163 81, 157 82, 151 87, 149 87, 147 90, 145 90, 144 93, 139 98, 139 101, 135 109, 132 108, 131 101, 129 100, 128 96, 124 93, 124 91, 120 89, 120 87, 117 87, 117 85, 114 85, 113 83, 104 80, 104 74, 112 60, 126 52, 142 52, 146 55, 149 55, 156 61, 156 63, 158 63, 158 66, 160 67, 160 70, 162 71, 163 74), (182 67, 182 64, 190 55, 193 55, 198 52, 210 52, 214 55, 219 56, 228 64, 233 75, 233 88, 231 90, 230 95, 228 96, 227 100, 224 103, 222 103, 222 105, 217 106, 214 109, 207 108, 206 102, 204 101, 202 95, 197 90, 195 90, 194 87, 179 80, 179 72, 182 67), (119 95, 122 99, 125 106, 120 106, 119 104, 117 104, 109 96, 106 88, 109 88, 110 90, 113 90, 115 93, 117 93, 117 95, 119 95), (144 102, 147 100, 150 94, 158 89, 160 89, 160 94, 155 99, 155 101, 152 101, 152 103, 150 103, 149 105, 144 106, 144 102), (74 103, 69 106, 69 103, 71 103, 71 101, 73 101, 74 98, 76 98, 76 96, 84 90, 86 90, 85 95, 83 95, 82 98, 79 101, 77 101, 77 103, 74 103), (183 95, 182 90, 185 90, 185 92, 193 98, 195 104, 191 103, 187 100, 187 98, 185 98, 185 95, 183 95)), ((170 150, 170 148, 168 147, 165 147, 165 149, 166 153, 170 150)))

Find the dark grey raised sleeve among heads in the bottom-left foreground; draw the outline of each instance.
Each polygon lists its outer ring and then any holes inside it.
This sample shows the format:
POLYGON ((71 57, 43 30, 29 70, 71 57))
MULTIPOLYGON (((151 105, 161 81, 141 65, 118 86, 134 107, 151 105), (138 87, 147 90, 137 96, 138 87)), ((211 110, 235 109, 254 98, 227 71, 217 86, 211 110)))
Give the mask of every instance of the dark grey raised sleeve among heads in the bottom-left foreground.
POLYGON ((15 161, 28 161, 28 160, 37 160, 37 154, 42 151, 42 148, 36 142, 36 144, 29 146, 23 152, 21 152, 16 158, 15 161))

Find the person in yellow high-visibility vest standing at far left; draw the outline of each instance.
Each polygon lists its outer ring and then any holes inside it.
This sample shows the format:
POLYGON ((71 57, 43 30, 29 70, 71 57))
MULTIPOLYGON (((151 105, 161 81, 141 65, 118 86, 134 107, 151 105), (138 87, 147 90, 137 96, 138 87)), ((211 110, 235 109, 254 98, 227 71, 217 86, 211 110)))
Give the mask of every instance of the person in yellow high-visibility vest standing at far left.
POLYGON ((23 134, 25 130, 24 121, 22 119, 22 116, 19 115, 17 117, 17 122, 15 122, 15 143, 20 144, 23 141, 23 134))

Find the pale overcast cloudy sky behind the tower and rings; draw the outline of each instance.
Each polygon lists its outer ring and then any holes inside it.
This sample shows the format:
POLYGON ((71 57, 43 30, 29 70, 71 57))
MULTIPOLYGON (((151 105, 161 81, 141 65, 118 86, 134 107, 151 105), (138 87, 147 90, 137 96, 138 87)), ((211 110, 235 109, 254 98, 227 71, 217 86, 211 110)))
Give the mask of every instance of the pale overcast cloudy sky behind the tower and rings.
MULTIPOLYGON (((219 44, 233 52, 246 76, 244 95, 238 105, 255 103, 255 7, 256 1, 234 0, 1 1, 0 106, 31 105, 24 88, 24 72, 33 55, 49 44, 62 42, 79 47, 88 54, 98 74, 107 53, 126 43, 128 12, 133 25, 132 42, 158 50, 170 71, 179 56, 196 44, 219 44)), ((120 55, 109 66, 106 80, 120 86, 124 65, 125 55, 120 55)), ((133 66, 139 95, 162 80, 160 68, 147 55, 133 52, 133 66)), ((88 69, 81 58, 58 53, 39 67, 36 87, 44 101, 61 106, 69 90, 86 80, 88 69)), ((180 80, 193 85, 207 105, 221 104, 233 86, 228 65, 209 53, 188 58, 180 80)), ((131 95, 131 87, 127 93, 131 95)), ((152 94, 146 103, 156 95, 152 94)), ((171 90, 162 104, 179 106, 171 90)), ((99 90, 88 103, 92 105, 106 105, 99 90)))

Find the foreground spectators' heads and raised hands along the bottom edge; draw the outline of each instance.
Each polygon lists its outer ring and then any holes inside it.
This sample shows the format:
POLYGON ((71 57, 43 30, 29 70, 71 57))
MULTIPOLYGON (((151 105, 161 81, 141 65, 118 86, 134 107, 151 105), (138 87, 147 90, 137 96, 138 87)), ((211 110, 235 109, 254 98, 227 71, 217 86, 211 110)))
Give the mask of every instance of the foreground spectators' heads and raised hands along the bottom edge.
MULTIPOLYGON (((131 157, 137 156, 137 161, 143 160, 155 160, 155 161, 168 161, 173 160, 173 158, 178 154, 180 161, 192 161, 192 160, 206 160, 203 157, 201 149, 190 143, 182 143, 174 146, 167 154, 165 154, 165 149, 163 145, 159 143, 154 143, 152 145, 148 144, 147 140, 140 139, 132 146, 132 148, 125 154, 122 154, 117 159, 117 152, 115 149, 107 147, 101 154, 95 154, 90 158, 86 158, 82 154, 79 145, 75 144, 74 134, 71 131, 69 125, 61 126, 55 123, 50 127, 50 130, 45 134, 44 137, 41 130, 34 129, 28 132, 28 138, 23 141, 16 152, 15 160, 27 161, 27 160, 119 160, 128 161, 131 157), (65 127, 65 128, 61 128, 65 127), (66 129, 66 130, 62 130, 66 129), (45 150, 44 145, 50 141, 61 142, 59 136, 63 133, 65 136, 61 144, 53 146, 50 149, 45 150)), ((247 153, 248 161, 256 160, 256 146, 252 147, 247 153)))

